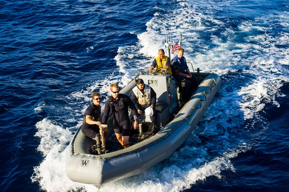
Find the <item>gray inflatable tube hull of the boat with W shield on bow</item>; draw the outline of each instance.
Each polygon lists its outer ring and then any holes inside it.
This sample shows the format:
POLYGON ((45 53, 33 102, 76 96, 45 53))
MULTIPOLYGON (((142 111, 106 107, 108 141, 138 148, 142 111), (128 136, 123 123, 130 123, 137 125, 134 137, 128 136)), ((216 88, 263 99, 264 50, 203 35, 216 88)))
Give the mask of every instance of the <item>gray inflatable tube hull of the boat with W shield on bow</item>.
POLYGON ((89 154, 91 141, 78 130, 66 151, 66 174, 75 182, 103 185, 140 174, 167 159, 191 135, 221 85, 217 74, 206 76, 175 118, 153 137, 129 148, 89 154))

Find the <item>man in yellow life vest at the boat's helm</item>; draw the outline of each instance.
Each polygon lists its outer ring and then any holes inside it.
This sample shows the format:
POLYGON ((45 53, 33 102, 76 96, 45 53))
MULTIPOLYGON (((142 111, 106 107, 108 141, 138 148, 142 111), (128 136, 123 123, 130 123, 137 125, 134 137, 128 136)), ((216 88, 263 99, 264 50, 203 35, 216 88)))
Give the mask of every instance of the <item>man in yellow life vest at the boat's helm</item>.
MULTIPOLYGON (((151 64, 151 68, 149 69, 149 73, 153 70, 153 69, 161 69, 161 68, 167 68, 168 69, 168 74, 170 74, 170 76, 172 76, 172 70, 170 68, 171 66, 171 59, 164 55, 164 50, 160 49, 158 52, 158 57, 156 57, 153 60, 153 64, 151 64)), ((159 73, 161 73, 161 71, 159 71, 159 73)))

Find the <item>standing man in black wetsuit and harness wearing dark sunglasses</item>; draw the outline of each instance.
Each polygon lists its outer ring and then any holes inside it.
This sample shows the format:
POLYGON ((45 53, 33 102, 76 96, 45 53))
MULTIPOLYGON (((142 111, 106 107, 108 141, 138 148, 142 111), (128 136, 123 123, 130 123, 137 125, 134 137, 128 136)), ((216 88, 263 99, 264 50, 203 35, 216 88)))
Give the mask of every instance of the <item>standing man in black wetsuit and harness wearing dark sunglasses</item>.
POLYGON ((117 140, 123 148, 129 147, 129 134, 130 134, 130 120, 128 114, 128 107, 131 108, 134 115, 134 129, 138 128, 138 113, 134 102, 131 98, 125 94, 119 93, 119 87, 117 84, 113 83, 110 85, 111 96, 105 102, 104 114, 103 114, 103 124, 108 121, 109 112, 112 111, 114 115, 113 129, 117 140))

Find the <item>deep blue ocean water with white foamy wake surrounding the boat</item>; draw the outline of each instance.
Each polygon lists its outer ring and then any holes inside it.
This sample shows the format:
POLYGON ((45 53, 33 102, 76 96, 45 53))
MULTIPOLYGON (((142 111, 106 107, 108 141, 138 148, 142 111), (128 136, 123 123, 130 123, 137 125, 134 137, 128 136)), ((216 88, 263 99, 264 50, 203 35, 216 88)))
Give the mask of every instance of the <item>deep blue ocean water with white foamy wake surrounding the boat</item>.
POLYGON ((288 191, 289 1, 0 1, 0 191, 288 191), (222 85, 190 137, 142 174, 72 182, 65 150, 92 92, 182 33, 222 85))

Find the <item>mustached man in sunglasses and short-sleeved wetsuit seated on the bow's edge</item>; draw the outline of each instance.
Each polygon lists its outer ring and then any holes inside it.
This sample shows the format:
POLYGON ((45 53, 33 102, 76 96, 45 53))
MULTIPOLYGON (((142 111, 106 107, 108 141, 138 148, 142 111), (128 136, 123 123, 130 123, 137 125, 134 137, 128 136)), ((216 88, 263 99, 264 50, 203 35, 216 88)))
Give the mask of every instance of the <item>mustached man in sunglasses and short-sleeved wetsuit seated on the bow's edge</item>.
MULTIPOLYGON (((87 107, 84 113, 84 120, 81 125, 81 131, 84 135, 95 138, 97 133, 100 133, 99 126, 102 122, 101 108, 100 108, 100 93, 92 94, 92 103, 87 107)), ((100 133, 101 134, 101 133, 100 133)), ((108 130, 104 130, 104 138, 108 134, 108 130)), ((102 134, 101 134, 102 135, 102 134)))

